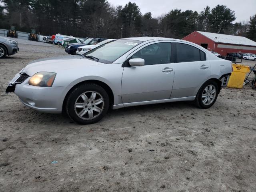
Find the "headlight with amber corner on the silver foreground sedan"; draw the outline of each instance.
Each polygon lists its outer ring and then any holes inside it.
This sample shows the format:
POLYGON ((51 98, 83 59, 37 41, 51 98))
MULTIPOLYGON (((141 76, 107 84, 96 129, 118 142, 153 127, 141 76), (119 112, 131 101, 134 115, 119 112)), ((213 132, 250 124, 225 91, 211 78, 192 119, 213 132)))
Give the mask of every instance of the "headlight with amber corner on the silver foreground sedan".
POLYGON ((55 76, 56 73, 52 72, 38 72, 30 78, 28 84, 40 87, 51 87, 55 76))

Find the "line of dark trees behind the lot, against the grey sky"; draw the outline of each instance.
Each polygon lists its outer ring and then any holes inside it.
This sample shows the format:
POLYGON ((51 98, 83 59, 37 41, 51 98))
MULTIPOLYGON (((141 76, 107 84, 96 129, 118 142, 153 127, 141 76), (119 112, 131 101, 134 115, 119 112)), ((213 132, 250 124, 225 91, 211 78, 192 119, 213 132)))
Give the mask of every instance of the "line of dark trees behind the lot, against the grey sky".
MULTIPOLYGON (((0 28, 40 34, 56 33, 76 37, 121 38, 163 36, 183 38, 205 31, 246 36, 256 41, 256 14, 249 21, 233 23, 235 12, 224 5, 206 6, 198 13, 172 9, 157 18, 142 14, 136 3, 111 6, 106 0, 0 0, 0 28)), ((249 18, 248 18, 249 19, 249 18)))

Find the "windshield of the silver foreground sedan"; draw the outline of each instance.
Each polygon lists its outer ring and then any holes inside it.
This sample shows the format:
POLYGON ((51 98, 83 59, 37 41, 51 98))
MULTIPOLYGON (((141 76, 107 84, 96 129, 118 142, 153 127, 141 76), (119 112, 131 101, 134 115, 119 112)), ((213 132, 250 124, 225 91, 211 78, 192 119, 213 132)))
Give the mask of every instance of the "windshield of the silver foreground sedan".
POLYGON ((120 39, 94 48, 86 52, 84 56, 94 57, 97 58, 99 62, 108 64, 114 62, 140 43, 142 43, 142 41, 120 39))

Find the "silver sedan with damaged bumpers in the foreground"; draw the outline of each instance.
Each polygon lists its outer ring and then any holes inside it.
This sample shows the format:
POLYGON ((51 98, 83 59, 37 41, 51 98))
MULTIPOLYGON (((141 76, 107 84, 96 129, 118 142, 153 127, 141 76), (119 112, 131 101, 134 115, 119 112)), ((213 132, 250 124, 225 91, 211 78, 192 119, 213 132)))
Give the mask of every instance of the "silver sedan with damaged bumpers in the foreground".
POLYGON ((195 101, 210 108, 232 72, 231 62, 184 40, 135 37, 109 42, 84 55, 28 64, 6 92, 41 112, 80 124, 100 120, 111 106, 195 101))

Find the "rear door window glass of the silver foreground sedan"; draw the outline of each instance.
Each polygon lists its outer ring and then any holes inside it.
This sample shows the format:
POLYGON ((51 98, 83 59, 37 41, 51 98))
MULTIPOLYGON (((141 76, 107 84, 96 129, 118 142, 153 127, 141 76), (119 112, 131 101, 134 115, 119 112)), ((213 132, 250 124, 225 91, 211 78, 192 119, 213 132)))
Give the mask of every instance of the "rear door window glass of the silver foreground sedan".
POLYGON ((206 54, 194 46, 177 43, 176 48, 177 48, 177 62, 206 60, 206 54))

